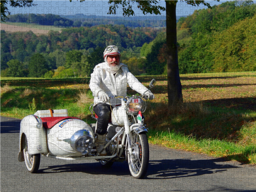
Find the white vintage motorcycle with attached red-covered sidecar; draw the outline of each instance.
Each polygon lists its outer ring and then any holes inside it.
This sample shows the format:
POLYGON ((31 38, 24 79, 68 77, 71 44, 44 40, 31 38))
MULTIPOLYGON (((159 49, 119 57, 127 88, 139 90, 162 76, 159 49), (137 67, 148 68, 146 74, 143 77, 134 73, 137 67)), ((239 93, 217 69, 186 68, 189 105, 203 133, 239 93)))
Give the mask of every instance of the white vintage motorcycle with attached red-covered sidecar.
MULTIPOLYGON (((149 87, 153 88, 153 79, 149 87)), ((127 161, 132 177, 143 178, 148 169, 149 147, 141 113, 146 109, 148 98, 145 92, 132 97, 109 96, 121 104, 111 108, 111 122, 108 124, 104 148, 97 153, 97 123, 87 124, 77 117, 69 117, 67 109, 42 110, 24 117, 20 122, 20 151, 18 161, 25 161, 30 173, 36 173, 40 157, 64 160, 95 159, 103 167, 110 167, 115 161, 127 161), (107 151, 107 156, 100 153, 107 151)), ((90 106, 92 117, 93 104, 90 106)))

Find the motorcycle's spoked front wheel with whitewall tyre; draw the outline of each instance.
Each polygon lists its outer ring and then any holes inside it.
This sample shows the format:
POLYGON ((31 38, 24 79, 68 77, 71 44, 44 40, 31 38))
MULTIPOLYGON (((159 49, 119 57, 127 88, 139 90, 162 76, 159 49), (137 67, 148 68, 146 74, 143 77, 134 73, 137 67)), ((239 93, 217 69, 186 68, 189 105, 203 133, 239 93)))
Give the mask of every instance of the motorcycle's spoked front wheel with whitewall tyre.
POLYGON ((148 170, 149 147, 146 133, 132 132, 132 154, 128 155, 129 170, 132 177, 142 179, 148 170))

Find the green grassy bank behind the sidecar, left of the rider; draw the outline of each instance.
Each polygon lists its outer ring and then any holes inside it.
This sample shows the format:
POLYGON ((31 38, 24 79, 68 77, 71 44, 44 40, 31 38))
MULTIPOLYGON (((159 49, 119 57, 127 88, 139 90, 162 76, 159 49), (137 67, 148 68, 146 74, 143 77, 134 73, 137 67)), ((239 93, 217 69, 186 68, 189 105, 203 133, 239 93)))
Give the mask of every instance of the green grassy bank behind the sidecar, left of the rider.
MULTIPOLYGON (((69 116, 78 116, 89 120, 89 107, 93 103, 92 92, 87 91, 87 98, 92 103, 79 103, 78 89, 44 89, 33 87, 15 87, 1 93, 1 116, 10 116, 22 119, 24 116, 34 114, 37 110, 68 109, 69 116), (32 111, 33 99, 36 110, 32 111)), ((90 120, 91 121, 91 120, 90 120)))

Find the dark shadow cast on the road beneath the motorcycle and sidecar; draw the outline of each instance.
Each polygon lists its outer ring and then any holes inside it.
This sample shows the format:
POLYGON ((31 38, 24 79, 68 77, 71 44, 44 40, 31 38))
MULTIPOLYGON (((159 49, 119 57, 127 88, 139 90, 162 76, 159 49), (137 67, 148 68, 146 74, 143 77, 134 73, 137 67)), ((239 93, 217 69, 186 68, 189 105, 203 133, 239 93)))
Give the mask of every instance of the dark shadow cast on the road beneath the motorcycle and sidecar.
MULTIPOLYGON (((227 169, 238 168, 230 164, 216 164, 225 159, 162 159, 149 161, 147 178, 145 179, 173 179, 181 177, 191 177, 198 175, 213 174, 224 172, 227 169), (150 177, 149 177, 150 176, 150 177)), ((130 176, 127 162, 115 162, 110 168, 102 168, 100 163, 77 163, 44 166, 38 173, 56 173, 56 172, 84 172, 93 175, 116 175, 130 176)))

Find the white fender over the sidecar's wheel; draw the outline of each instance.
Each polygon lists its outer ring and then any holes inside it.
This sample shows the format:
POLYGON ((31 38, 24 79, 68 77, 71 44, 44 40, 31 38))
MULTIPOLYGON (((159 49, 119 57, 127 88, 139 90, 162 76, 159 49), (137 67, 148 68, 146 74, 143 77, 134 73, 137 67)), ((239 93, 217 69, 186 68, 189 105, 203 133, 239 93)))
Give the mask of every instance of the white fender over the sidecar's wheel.
POLYGON ((27 137, 28 153, 33 155, 37 153, 46 153, 46 130, 43 127, 42 120, 35 115, 28 115, 20 122, 20 152, 18 160, 23 161, 24 140, 27 137))

